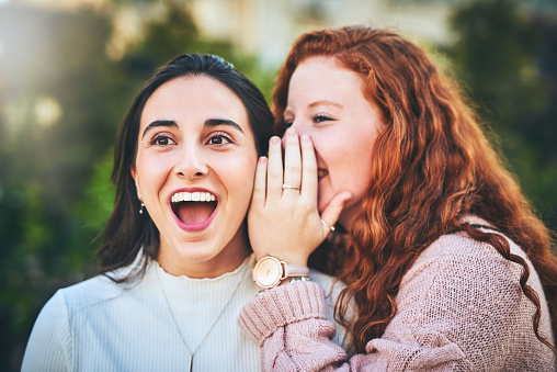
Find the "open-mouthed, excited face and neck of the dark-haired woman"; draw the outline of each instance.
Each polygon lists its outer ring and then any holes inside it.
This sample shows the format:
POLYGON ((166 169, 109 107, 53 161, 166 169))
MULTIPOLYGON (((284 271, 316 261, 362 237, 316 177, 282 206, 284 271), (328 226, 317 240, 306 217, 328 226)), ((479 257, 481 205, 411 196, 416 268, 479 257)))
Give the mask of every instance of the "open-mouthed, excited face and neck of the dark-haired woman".
POLYGON ((214 278, 242 262, 257 160, 246 108, 225 84, 180 77, 151 94, 132 176, 167 272, 214 278))

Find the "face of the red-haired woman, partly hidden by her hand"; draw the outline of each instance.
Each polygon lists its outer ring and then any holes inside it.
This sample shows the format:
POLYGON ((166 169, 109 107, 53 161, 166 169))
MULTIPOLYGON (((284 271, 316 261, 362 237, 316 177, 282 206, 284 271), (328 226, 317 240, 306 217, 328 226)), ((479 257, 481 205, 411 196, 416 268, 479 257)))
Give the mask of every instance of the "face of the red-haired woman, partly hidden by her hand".
POLYGON ((332 57, 304 59, 292 75, 285 123, 308 134, 319 167, 319 212, 342 191, 352 192, 339 222, 350 228, 371 181, 372 150, 383 127, 363 94, 364 79, 332 57))

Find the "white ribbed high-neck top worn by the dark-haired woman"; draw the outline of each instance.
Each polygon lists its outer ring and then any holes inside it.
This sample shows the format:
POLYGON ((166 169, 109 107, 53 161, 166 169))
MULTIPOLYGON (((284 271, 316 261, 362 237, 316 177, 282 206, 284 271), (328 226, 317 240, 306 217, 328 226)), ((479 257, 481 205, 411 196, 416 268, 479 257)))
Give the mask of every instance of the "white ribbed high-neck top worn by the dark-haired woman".
MULTIPOLYGON (((234 272, 191 279, 168 274, 151 262, 141 281, 128 289, 105 277, 62 289, 35 323, 22 371, 189 371, 180 334, 191 351, 197 349, 193 371, 260 371, 259 347, 236 323, 259 292, 251 280, 253 263, 251 256, 234 272)), ((331 288, 330 277, 310 275, 331 288)), ((334 300, 326 305, 331 319, 334 300)))

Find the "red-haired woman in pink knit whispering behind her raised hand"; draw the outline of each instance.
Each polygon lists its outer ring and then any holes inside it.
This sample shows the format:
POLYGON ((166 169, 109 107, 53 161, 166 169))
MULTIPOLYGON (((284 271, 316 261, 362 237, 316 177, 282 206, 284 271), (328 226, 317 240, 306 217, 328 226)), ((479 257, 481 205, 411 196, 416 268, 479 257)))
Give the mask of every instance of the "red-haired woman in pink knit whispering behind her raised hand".
POLYGON ((272 139, 250 241, 258 259, 309 261, 346 284, 336 316, 356 354, 331 341, 323 290, 288 283, 239 318, 265 370, 554 371, 549 232, 420 47, 386 30, 309 32, 273 102, 284 174, 272 139))

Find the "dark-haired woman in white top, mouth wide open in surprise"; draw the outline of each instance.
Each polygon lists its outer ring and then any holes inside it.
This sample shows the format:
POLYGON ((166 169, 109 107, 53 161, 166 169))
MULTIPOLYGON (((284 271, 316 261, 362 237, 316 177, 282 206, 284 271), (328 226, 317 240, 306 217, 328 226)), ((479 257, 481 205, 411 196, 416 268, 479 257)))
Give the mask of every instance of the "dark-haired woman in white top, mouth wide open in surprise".
POLYGON ((96 275, 45 305, 22 369, 260 370, 236 318, 259 291, 246 213, 272 122, 263 94, 219 57, 159 69, 117 134, 96 275))

